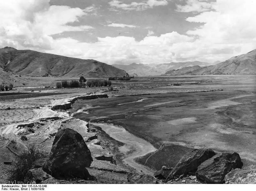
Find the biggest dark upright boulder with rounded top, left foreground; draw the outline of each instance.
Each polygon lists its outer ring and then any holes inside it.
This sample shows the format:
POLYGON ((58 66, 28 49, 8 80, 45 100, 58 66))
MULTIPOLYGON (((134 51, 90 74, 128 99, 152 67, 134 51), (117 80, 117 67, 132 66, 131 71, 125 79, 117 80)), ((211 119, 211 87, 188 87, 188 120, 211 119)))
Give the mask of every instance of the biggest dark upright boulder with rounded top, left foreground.
POLYGON ((52 144, 50 157, 43 170, 57 179, 91 180, 86 167, 92 163, 91 152, 83 137, 73 129, 59 130, 52 144))

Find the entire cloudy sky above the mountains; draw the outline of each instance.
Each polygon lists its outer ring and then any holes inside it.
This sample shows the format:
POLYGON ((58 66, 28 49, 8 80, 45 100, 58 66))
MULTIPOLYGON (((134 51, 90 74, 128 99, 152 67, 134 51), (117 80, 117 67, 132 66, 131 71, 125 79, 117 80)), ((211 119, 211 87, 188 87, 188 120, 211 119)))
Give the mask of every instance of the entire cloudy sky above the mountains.
POLYGON ((132 62, 224 61, 256 48, 255 0, 0 0, 0 47, 132 62))

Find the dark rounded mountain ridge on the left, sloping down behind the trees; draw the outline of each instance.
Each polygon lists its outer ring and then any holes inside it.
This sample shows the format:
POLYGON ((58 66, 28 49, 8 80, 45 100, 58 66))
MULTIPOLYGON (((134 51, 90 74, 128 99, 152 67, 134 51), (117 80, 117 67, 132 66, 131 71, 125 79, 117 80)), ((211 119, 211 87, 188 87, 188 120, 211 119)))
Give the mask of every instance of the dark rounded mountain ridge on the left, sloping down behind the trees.
POLYGON ((17 50, 11 47, 0 48, 0 68, 26 76, 56 77, 123 77, 124 70, 98 62, 67 56, 17 50))

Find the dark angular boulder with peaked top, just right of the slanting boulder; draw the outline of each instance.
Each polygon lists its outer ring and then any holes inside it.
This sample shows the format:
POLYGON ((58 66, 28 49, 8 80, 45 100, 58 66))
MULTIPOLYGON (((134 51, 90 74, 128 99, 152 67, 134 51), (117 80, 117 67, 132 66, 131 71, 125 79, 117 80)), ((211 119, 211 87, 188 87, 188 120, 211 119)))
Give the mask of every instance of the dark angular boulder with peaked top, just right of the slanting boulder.
POLYGON ((242 168, 243 163, 238 153, 220 153, 204 161, 196 171, 196 178, 205 183, 223 184, 224 177, 232 169, 242 168))

